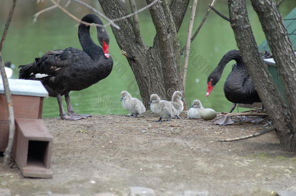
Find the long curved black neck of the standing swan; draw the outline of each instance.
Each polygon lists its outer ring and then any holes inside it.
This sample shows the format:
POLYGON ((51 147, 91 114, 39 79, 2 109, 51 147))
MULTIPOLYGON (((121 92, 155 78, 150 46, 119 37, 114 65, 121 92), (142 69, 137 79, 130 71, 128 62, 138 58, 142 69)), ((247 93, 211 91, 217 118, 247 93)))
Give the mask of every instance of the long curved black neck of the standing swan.
MULTIPOLYGON (((81 20, 88 23, 95 23, 100 25, 103 24, 98 16, 92 14, 85 15, 81 20)), ((103 54, 103 50, 99 45, 96 45, 94 43, 90 36, 89 29, 90 26, 86 26, 81 23, 78 28, 78 37, 83 51, 86 52, 91 58, 95 59, 96 57, 98 57, 100 52, 103 54)), ((101 30, 102 28, 97 27, 98 35, 100 34, 101 30)))

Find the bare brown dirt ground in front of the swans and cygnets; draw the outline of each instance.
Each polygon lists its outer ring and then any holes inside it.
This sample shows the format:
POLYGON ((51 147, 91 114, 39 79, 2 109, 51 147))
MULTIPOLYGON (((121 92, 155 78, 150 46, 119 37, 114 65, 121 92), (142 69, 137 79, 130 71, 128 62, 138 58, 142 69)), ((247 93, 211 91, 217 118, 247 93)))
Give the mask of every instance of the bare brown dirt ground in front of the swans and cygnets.
POLYGON ((157 196, 189 190, 208 191, 209 196, 296 190, 296 153, 282 151, 275 132, 217 142, 259 132, 262 123, 218 126, 204 120, 155 120, 151 114, 44 119, 54 138, 53 178, 24 178, 16 166, 0 166, 0 188, 10 189, 12 196, 128 196, 131 186, 151 188, 157 196))

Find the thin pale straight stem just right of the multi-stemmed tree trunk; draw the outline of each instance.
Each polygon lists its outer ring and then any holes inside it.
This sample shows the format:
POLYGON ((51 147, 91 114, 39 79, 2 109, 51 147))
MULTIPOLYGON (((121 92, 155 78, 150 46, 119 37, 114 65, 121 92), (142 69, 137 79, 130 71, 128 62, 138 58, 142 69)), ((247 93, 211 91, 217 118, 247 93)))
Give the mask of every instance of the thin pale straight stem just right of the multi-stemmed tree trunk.
MULTIPOLYGON (((187 74, 187 67, 188 67, 188 60, 189 60, 189 53, 190 53, 190 43, 191 43, 190 38, 191 38, 191 34, 192 34, 196 8, 197 8, 197 0, 194 0, 193 4, 192 4, 191 16, 190 16, 190 21, 189 21, 187 41, 186 41, 186 50, 185 50, 185 59, 184 59, 184 66, 183 66, 184 67, 183 79, 182 79, 183 94, 185 94, 186 74, 187 74)), ((185 106, 187 106, 187 105, 185 104, 185 106)))

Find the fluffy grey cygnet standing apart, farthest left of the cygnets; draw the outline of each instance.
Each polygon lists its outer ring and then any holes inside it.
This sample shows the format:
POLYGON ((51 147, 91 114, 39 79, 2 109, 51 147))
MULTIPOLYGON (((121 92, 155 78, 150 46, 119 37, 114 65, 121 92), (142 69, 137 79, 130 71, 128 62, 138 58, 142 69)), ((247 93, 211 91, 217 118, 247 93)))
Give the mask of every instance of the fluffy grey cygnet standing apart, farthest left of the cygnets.
POLYGON ((137 98, 132 98, 132 95, 125 90, 121 92, 121 101, 123 108, 131 112, 132 116, 129 117, 137 117, 138 114, 142 114, 146 111, 143 103, 137 98))

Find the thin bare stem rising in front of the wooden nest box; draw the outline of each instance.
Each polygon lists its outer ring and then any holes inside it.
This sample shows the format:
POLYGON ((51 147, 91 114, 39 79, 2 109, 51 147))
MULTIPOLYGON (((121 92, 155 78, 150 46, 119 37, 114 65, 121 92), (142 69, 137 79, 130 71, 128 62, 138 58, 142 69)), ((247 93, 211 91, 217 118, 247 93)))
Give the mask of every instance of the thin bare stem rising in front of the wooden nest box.
POLYGON ((5 166, 11 165, 12 161, 12 149, 13 149, 13 143, 14 143, 14 136, 15 136, 15 116, 14 116, 14 109, 13 109, 13 103, 12 103, 12 98, 11 98, 11 92, 9 89, 9 84, 8 84, 8 79, 5 73, 5 67, 2 59, 2 45, 4 43, 8 27, 11 22, 12 15, 14 13, 16 7, 16 0, 12 1, 12 5, 10 8, 9 15, 7 17, 7 22, 5 24, 4 32, 2 35, 2 39, 0 42, 0 73, 2 76, 2 82, 3 82, 3 87, 4 87, 4 93, 5 93, 5 100, 7 104, 7 111, 8 111, 8 121, 9 121, 9 136, 8 136, 8 145, 7 148, 5 149, 5 154, 4 154, 4 160, 3 163, 5 166))

